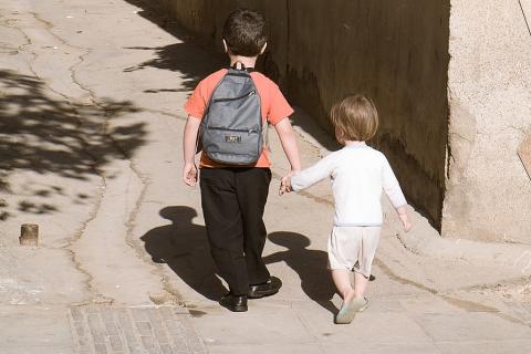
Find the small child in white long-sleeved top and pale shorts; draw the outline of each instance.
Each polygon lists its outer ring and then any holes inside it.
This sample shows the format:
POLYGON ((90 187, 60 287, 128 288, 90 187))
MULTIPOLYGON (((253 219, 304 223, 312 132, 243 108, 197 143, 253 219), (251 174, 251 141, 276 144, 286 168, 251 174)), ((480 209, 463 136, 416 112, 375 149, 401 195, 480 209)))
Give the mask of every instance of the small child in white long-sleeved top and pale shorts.
POLYGON ((282 179, 281 190, 302 190, 331 177, 335 200, 334 228, 329 240, 329 267, 343 304, 336 323, 351 323, 356 312, 368 305, 365 289, 378 246, 382 189, 398 212, 404 229, 412 227, 406 199, 385 156, 368 147, 378 127, 373 102, 351 95, 334 105, 331 121, 335 137, 344 147, 293 177, 282 179), (354 288, 350 272, 354 270, 354 288))

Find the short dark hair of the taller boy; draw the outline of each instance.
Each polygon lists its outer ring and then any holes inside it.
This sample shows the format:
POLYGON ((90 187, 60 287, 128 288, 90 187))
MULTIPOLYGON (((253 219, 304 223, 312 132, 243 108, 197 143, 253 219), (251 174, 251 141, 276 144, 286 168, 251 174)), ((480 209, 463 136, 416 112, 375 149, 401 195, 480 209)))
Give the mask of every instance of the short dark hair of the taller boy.
POLYGON ((223 40, 230 54, 257 56, 268 41, 266 18, 247 9, 231 12, 225 21, 223 40))

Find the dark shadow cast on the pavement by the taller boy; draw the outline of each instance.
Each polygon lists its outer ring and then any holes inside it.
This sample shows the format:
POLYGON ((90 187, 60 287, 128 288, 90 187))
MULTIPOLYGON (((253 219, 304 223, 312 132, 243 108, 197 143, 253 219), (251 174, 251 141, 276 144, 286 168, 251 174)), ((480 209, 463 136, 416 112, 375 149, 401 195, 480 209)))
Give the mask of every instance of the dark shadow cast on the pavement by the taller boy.
POLYGON ((159 215, 171 221, 147 231, 140 239, 156 263, 168 267, 196 292, 209 300, 219 300, 227 293, 216 275, 210 256, 207 230, 194 223, 197 211, 189 207, 166 207, 159 215))

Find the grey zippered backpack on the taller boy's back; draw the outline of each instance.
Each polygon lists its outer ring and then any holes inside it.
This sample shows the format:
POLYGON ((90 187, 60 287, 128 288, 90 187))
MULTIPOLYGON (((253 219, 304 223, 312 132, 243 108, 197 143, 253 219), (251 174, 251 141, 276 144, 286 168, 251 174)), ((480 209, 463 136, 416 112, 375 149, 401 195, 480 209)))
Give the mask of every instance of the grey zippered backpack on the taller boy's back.
POLYGON ((264 131, 257 86, 243 65, 235 65, 214 88, 198 142, 217 163, 251 165, 262 154, 264 131))

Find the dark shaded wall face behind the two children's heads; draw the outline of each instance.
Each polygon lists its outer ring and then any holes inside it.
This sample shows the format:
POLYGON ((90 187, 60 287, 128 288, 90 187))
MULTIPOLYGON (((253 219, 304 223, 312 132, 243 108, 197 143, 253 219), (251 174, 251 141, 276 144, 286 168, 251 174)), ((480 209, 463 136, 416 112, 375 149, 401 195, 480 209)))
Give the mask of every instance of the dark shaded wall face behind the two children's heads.
POLYGON ((270 24, 264 71, 326 128, 334 102, 352 92, 371 95, 382 121, 374 143, 388 156, 409 201, 440 228, 449 0, 160 1, 188 30, 217 45, 232 10, 263 12, 270 24))

